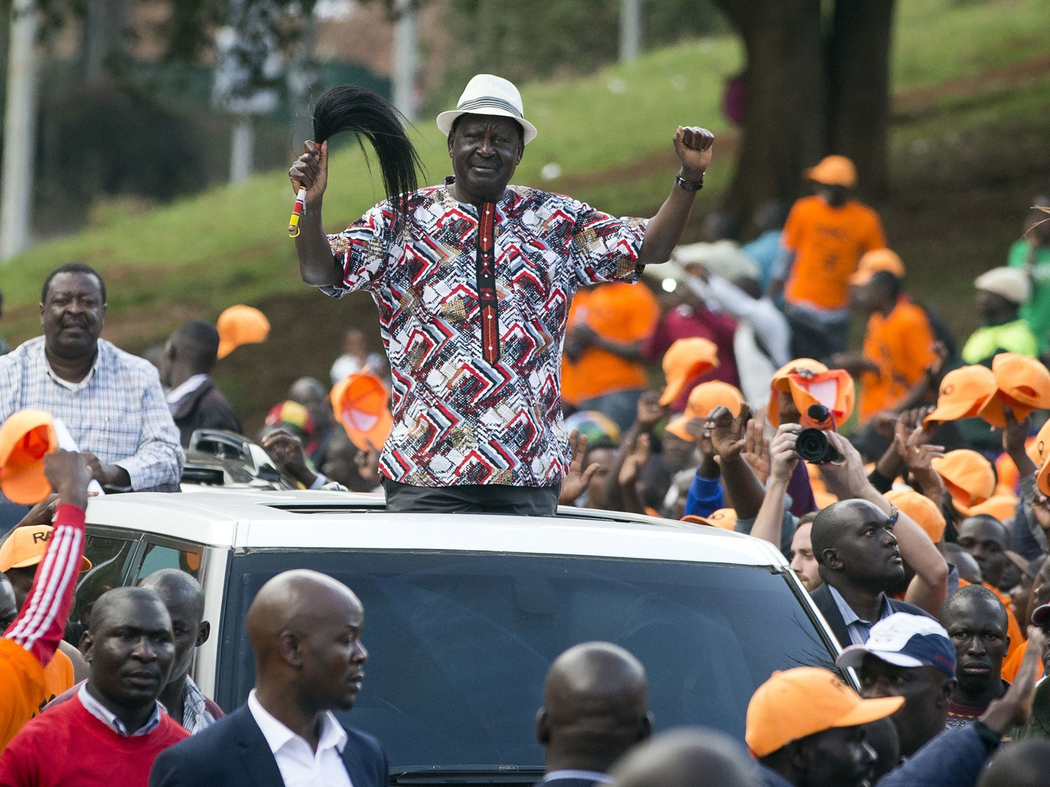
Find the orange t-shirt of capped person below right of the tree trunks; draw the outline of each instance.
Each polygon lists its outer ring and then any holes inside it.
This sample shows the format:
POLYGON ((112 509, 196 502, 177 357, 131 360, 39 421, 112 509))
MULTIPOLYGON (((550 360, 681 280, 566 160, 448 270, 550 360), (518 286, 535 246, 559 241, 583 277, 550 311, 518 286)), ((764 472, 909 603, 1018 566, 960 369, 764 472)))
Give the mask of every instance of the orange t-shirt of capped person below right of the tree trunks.
POLYGON ((861 376, 859 417, 862 424, 907 396, 936 359, 936 341, 926 313, 907 296, 901 296, 885 317, 876 312, 868 318, 864 357, 874 361, 881 374, 865 371, 861 376))

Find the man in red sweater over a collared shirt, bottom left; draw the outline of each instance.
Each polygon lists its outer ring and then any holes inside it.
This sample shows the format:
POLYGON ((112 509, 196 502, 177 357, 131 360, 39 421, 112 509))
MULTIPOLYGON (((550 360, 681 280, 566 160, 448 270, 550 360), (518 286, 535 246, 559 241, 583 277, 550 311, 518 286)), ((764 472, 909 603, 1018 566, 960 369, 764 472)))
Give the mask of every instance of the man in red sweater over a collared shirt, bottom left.
POLYGON ((156 756, 189 737, 156 701, 175 647, 152 591, 100 596, 81 644, 87 683, 15 737, 0 756, 0 787, 146 787, 156 756))

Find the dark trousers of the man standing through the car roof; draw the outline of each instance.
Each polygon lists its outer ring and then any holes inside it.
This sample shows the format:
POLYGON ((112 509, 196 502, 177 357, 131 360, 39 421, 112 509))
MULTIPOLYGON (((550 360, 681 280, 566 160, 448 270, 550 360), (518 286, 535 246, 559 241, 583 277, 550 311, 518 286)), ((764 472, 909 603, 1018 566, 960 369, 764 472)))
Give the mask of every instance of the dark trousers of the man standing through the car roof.
POLYGON ((461 484, 453 487, 414 487, 383 478, 386 510, 397 513, 511 514, 553 516, 562 485, 512 487, 505 484, 461 484))

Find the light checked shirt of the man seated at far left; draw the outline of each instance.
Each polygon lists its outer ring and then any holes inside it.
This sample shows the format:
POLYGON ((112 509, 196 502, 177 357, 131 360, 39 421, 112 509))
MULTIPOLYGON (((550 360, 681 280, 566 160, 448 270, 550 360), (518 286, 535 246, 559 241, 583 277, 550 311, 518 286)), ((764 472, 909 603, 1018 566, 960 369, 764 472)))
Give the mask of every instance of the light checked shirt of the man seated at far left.
POLYGON ((91 370, 70 383, 47 363, 44 337, 29 339, 0 358, 0 423, 26 407, 62 419, 77 447, 127 470, 132 489, 177 488, 178 429, 148 361, 100 339, 91 370))

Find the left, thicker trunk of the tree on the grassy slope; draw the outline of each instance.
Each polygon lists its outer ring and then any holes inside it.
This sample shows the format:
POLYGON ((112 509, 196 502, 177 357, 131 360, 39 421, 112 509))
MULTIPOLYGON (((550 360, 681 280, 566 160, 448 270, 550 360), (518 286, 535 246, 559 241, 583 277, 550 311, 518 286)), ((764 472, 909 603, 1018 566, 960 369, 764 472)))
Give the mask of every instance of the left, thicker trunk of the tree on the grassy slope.
POLYGON ((723 208, 743 221, 768 199, 798 194, 825 147, 820 0, 719 0, 748 66, 736 174, 723 208))

